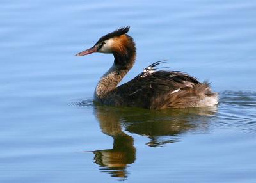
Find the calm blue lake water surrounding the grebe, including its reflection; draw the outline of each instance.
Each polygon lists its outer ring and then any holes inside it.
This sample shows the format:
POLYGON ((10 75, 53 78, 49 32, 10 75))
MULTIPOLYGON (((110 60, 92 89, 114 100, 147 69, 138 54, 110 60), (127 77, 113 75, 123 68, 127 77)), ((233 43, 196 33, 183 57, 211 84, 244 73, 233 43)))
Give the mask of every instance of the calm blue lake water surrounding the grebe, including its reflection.
POLYGON ((256 182, 256 1, 0 3, 0 182, 256 182), (212 82, 220 105, 94 106, 111 54, 74 57, 131 26, 138 57, 212 82))

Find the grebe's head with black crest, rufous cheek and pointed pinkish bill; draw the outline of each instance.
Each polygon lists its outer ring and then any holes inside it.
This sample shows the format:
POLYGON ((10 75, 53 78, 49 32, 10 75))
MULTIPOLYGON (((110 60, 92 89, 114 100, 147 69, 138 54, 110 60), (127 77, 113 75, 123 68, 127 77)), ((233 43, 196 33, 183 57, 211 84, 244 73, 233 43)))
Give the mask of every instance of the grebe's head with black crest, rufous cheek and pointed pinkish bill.
POLYGON ((129 31, 130 27, 122 27, 116 29, 112 33, 108 33, 105 36, 102 36, 93 47, 86 49, 85 51, 79 52, 76 56, 84 56, 87 54, 92 54, 93 52, 101 53, 112 53, 123 52, 127 54, 127 49, 134 45, 132 38, 126 33, 129 31))

